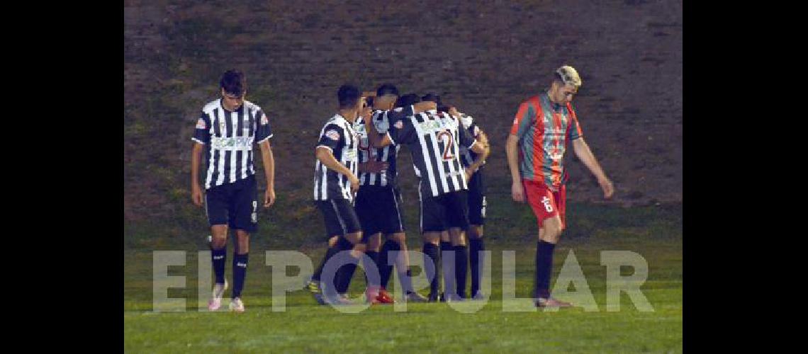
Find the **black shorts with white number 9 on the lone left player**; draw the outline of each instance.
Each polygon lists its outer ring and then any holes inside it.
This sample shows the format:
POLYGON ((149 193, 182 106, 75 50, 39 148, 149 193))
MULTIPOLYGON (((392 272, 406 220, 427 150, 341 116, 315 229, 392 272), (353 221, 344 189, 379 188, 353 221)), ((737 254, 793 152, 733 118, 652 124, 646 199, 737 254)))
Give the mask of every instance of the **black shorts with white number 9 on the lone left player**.
POLYGON ((231 229, 258 231, 258 185, 255 175, 245 179, 215 185, 205 193, 205 214, 208 223, 227 224, 231 229))

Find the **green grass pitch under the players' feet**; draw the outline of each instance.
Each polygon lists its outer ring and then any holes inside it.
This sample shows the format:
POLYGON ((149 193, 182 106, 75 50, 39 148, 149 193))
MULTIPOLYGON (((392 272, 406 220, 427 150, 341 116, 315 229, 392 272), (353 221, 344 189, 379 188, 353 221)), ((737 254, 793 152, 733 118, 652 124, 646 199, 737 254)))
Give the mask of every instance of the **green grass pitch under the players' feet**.
MULTIPOLYGON (((286 248, 279 244, 252 248, 246 289, 242 294, 245 313, 199 311, 196 309, 196 251, 204 249, 201 243, 161 248, 187 251, 186 265, 169 269, 171 276, 186 277, 186 289, 168 292, 170 298, 185 298, 187 307, 182 312, 154 312, 153 253, 147 248, 124 249, 124 351, 681 352, 680 205, 673 208, 571 208, 577 210, 570 219, 570 237, 562 239, 556 248, 553 283, 572 250, 595 298, 596 311, 581 307, 557 312, 535 311, 526 306, 529 305, 527 299, 503 302, 503 251, 516 252, 516 297, 528 298, 532 287, 536 243, 531 234, 535 226, 527 224, 529 219, 523 220, 524 213, 520 211, 510 217, 499 215, 502 219, 496 223, 511 223, 511 229, 521 231, 518 236, 496 237, 486 244, 492 251, 491 298, 482 310, 471 314, 454 310, 445 303, 408 304, 404 312, 395 311, 393 306, 372 306, 359 313, 346 314, 330 306, 317 306, 302 289, 287 294, 284 312, 273 311, 271 267, 264 265, 263 252, 302 251, 315 262, 322 256, 320 247, 301 248, 300 244, 288 244, 286 248), (611 222, 598 219, 598 215, 611 222), (576 219, 578 221, 574 221, 576 219), (584 220, 595 225, 587 226, 584 220), (606 267, 600 263, 601 251, 631 251, 645 258, 649 271, 640 289, 653 311, 638 310, 626 294, 621 294, 619 310, 607 310, 606 267), (528 311, 503 311, 503 307, 519 306, 528 311)), ((496 218, 494 215, 494 220, 496 218)), ((492 229, 494 227, 489 228, 492 229)), ((408 242, 410 249, 419 250, 419 239, 413 236, 408 242)), ((231 277, 231 259, 228 256, 228 278, 231 277)), ((414 259, 412 263, 420 264, 421 260, 414 259)), ((621 269, 622 275, 631 273, 631 268, 621 269)), ((351 296, 359 298, 364 287, 360 271, 354 279, 351 296)), ((578 289, 569 289, 574 290, 578 289)), ((426 292, 421 290, 422 294, 426 292)), ((208 291, 202 296, 205 300, 208 291)), ((229 290, 225 300, 228 298, 229 290)), ((574 294, 562 298, 572 302, 578 299, 574 294)), ((226 301, 222 307, 226 308, 226 301)))

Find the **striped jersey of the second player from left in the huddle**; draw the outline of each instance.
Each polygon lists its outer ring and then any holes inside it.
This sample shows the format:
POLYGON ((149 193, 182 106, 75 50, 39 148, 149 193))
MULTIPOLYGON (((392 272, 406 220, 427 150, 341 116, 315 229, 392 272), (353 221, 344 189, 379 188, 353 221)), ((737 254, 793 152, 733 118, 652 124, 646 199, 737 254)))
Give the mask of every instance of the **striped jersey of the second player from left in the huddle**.
POLYGON ((361 118, 357 119, 356 123, 356 133, 360 136, 359 162, 364 163, 372 159, 389 164, 389 167, 381 173, 360 173, 360 185, 395 185, 395 179, 398 176, 396 157, 398 157, 401 147, 388 145, 384 148, 370 148, 370 144, 368 144, 368 131, 377 131, 379 134, 385 134, 388 131, 387 111, 374 110, 370 124, 365 123, 361 118))

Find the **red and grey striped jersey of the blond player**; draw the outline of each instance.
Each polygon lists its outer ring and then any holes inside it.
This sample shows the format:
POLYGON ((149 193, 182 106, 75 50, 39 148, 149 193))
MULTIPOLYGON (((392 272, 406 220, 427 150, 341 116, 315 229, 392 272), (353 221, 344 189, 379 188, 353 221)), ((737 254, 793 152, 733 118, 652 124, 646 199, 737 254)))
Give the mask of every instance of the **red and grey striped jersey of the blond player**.
POLYGON ((522 178, 558 190, 567 180, 564 152, 570 141, 583 137, 572 105, 554 104, 547 93, 528 98, 516 112, 511 135, 519 138, 522 178))

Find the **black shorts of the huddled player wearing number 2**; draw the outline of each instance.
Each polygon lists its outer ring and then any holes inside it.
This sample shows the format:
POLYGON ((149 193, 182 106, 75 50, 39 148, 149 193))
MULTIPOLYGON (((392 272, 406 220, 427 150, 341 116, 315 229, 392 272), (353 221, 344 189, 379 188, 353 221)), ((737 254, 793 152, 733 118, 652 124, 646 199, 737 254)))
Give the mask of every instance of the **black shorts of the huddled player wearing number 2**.
POLYGON ((469 227, 467 191, 451 192, 433 197, 421 194, 421 232, 447 231, 450 227, 469 227))

